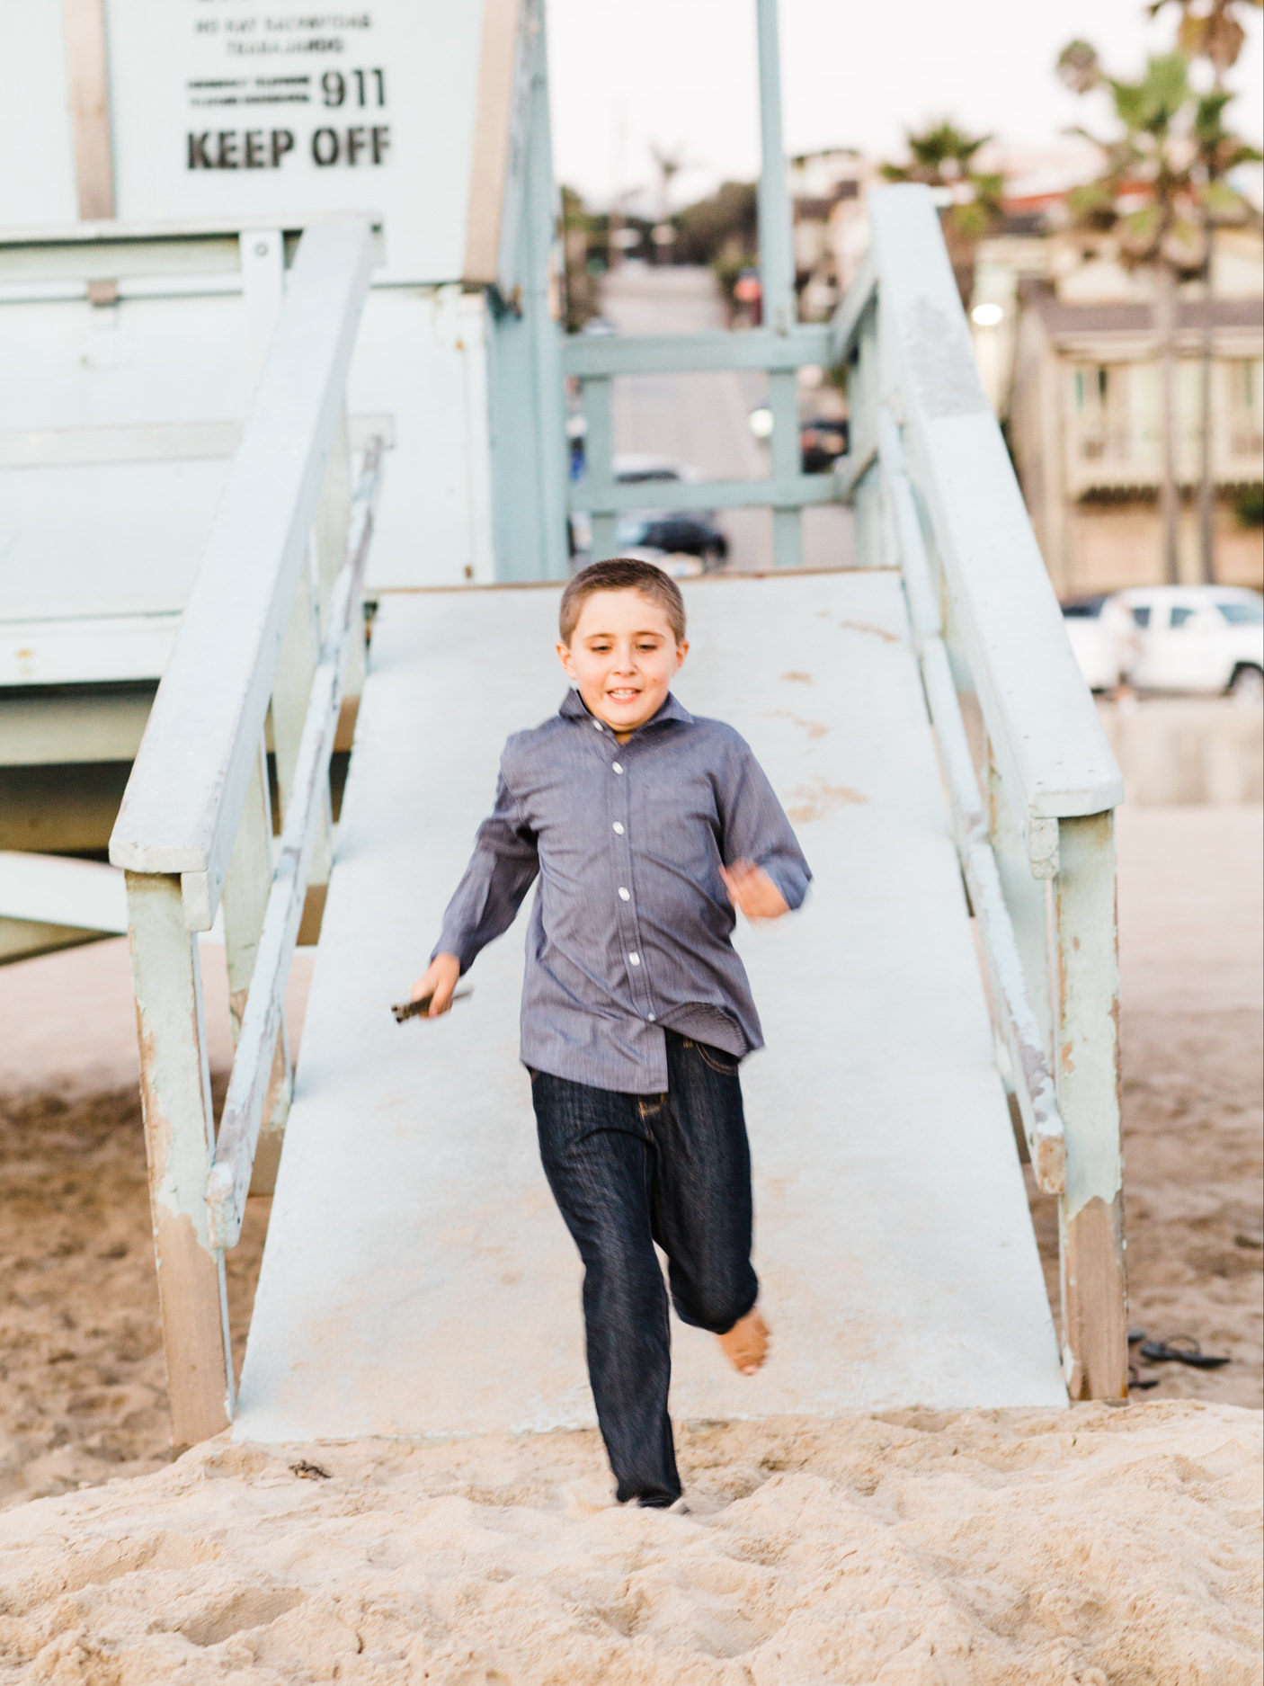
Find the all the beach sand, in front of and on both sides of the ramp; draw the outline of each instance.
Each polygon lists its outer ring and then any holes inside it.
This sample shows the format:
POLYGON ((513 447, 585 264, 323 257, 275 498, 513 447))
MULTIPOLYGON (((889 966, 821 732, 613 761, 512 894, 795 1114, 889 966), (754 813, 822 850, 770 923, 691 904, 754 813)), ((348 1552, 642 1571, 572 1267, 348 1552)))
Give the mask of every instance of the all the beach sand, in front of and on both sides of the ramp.
POLYGON ((691 1517, 613 1509, 593 1435, 169 1465, 125 944, 0 971, 0 1683, 1259 1681, 1261 841, 1121 816, 1131 1318, 1230 1366, 1143 1366, 1126 1409, 684 1425, 691 1517))

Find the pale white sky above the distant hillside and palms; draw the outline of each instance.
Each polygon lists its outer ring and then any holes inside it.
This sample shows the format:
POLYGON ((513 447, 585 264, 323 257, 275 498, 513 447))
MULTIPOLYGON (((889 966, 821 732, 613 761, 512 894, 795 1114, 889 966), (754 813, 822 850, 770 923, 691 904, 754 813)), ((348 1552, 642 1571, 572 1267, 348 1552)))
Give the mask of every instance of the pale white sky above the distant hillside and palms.
MULTIPOLYGON (((684 158, 672 204, 758 174, 755 0, 546 0, 554 174, 592 204, 657 180, 652 147, 684 158)), ((785 150, 903 155, 907 128, 939 116, 1015 147, 1104 123, 1053 62, 1074 37, 1138 74, 1165 51, 1176 8, 1143 0, 780 0, 785 150)), ((1261 13, 1230 86, 1239 133, 1259 143, 1261 13)))

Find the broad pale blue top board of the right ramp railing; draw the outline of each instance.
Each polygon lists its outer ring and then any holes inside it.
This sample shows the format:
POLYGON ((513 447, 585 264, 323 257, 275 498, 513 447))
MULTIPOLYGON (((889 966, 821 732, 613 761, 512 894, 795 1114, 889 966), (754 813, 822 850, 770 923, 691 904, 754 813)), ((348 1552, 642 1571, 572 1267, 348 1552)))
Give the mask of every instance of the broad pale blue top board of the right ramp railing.
POLYGON ((1053 877, 1047 821, 1116 808, 1122 777, 979 379, 929 189, 875 189, 870 223, 873 260, 839 309, 839 334, 854 344, 876 288, 883 395, 898 395, 954 627, 1033 870, 1053 877))

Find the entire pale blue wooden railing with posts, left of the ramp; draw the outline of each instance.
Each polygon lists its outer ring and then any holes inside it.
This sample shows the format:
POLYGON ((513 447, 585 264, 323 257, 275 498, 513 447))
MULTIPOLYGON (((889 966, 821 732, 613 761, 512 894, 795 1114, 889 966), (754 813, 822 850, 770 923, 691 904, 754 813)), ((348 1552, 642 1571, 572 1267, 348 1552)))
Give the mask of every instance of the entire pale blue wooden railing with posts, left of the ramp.
MULTIPOLYGON (((290 1098, 285 971, 308 878, 324 880, 329 865, 329 750, 342 663, 354 656, 359 668, 351 626, 381 448, 369 452, 347 551, 344 395, 371 265, 364 217, 320 223, 300 241, 275 329, 260 336, 266 356, 254 400, 110 840, 110 858, 126 870, 177 1447, 233 1418, 219 1234, 239 1231, 270 1089, 268 1128, 280 1146, 290 1098), (275 867, 263 749, 270 705, 283 803, 275 867), (228 1200, 212 1209, 216 1131, 194 932, 211 927, 221 899, 241 1034, 224 1138, 226 1152, 236 1145, 233 1175, 228 1200)), ((266 1177, 256 1182, 265 1187, 266 1177)))

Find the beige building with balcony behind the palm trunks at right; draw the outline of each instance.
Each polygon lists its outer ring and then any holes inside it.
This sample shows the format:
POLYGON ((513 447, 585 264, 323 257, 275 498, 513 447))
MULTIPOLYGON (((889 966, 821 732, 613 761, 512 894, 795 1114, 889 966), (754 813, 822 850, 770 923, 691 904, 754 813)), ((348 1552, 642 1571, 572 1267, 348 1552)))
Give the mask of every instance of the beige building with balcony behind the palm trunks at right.
MULTIPOLYGON (((1264 482, 1264 246, 1217 236, 1212 302, 1215 570, 1264 585, 1257 523, 1264 482)), ((1176 475, 1180 566, 1198 578, 1193 494, 1200 475, 1202 287, 1181 288, 1176 475)), ((1065 234, 1013 233, 976 255, 974 344, 1006 423, 1040 546, 1058 595, 1163 578, 1160 344, 1151 278, 1084 260, 1065 234)))

